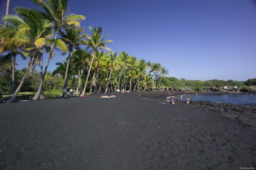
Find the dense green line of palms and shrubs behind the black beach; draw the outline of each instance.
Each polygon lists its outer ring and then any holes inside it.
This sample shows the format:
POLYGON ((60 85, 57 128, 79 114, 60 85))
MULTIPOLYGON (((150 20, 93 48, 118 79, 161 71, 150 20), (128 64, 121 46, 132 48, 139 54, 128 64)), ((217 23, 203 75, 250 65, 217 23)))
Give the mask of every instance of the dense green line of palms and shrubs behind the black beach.
POLYGON ((69 13, 68 0, 32 0, 42 10, 16 7, 15 15, 3 16, 0 25, 0 90, 9 93, 12 102, 20 91, 36 92, 33 100, 43 99, 44 91, 74 88, 77 96, 86 92, 120 90, 159 90, 190 87, 195 90, 227 86, 254 86, 255 79, 239 81, 191 81, 168 77, 160 63, 137 59, 127 52, 107 47, 102 27, 89 26, 89 34, 80 27, 83 15, 69 13), (65 60, 47 71, 54 52, 65 60), (47 53, 43 66, 43 53, 47 53), (28 61, 28 67, 15 69, 16 58, 28 61), (39 70, 38 70, 39 68, 39 70))

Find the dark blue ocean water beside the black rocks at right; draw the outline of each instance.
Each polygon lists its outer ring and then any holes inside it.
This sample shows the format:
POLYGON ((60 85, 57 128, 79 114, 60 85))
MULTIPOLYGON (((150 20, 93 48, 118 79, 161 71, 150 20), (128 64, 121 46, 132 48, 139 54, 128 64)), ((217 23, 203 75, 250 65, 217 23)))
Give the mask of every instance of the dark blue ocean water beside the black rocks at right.
MULTIPOLYGON (((162 99, 166 99, 168 96, 163 96, 162 99)), ((251 104, 256 105, 256 94, 250 95, 243 95, 243 94, 221 94, 221 95, 182 95, 175 96, 175 100, 182 100, 186 101, 190 98, 192 101, 210 101, 216 103, 234 103, 234 104, 251 104)))

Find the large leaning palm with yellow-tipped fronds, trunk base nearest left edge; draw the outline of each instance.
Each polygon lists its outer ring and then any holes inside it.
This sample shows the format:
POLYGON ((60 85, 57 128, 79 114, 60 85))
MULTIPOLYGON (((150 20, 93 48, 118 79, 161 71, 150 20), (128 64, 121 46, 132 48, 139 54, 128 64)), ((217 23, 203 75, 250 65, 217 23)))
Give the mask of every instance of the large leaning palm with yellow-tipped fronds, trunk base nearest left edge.
POLYGON ((25 80, 30 76, 31 70, 35 69, 37 62, 40 60, 43 47, 52 45, 62 51, 67 51, 63 41, 52 38, 52 24, 43 17, 42 13, 27 8, 17 8, 16 12, 22 15, 24 20, 17 15, 6 15, 3 17, 4 21, 18 25, 18 31, 13 38, 2 41, 0 52, 8 51, 13 47, 17 49, 23 48, 25 51, 30 52, 30 60, 26 74, 7 102, 12 102, 18 95, 25 80))

